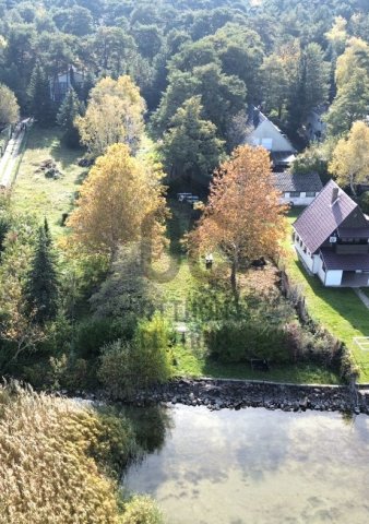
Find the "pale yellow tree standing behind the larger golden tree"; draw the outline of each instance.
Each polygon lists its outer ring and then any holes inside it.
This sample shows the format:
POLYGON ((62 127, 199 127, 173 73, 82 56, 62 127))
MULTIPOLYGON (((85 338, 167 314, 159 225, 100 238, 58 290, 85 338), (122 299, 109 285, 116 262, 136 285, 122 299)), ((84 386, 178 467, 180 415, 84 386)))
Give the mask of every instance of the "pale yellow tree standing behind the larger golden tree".
POLYGON ((119 142, 135 153, 144 129, 145 103, 130 76, 102 79, 91 91, 86 114, 75 124, 92 156, 103 155, 119 142))

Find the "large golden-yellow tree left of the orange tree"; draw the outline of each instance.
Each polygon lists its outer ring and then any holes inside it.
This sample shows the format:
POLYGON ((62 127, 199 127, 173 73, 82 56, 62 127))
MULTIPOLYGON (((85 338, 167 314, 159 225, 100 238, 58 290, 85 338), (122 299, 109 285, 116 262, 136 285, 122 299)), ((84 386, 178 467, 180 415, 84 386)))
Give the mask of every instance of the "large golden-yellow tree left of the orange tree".
POLYGON ((164 174, 140 160, 126 144, 108 147, 83 182, 67 225, 69 242, 114 259, 119 246, 140 239, 160 240, 166 216, 164 174))

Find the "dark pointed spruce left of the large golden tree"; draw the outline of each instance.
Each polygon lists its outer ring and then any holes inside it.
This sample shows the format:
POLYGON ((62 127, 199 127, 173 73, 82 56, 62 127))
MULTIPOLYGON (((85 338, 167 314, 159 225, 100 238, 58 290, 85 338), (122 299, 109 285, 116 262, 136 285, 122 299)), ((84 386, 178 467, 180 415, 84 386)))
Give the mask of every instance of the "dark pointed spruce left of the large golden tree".
POLYGON ((56 255, 47 221, 38 229, 31 270, 25 286, 25 298, 35 322, 53 320, 58 312, 58 275, 56 255))

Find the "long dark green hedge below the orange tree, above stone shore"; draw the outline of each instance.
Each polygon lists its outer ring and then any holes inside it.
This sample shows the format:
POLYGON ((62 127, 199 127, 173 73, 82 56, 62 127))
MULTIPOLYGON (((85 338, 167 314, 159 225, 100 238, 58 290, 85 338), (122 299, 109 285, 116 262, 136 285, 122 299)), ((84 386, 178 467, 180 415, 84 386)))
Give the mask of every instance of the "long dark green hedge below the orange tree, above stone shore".
POLYGON ((286 332, 259 320, 227 320, 210 324, 204 332, 210 355, 222 362, 242 362, 250 358, 274 362, 289 360, 286 332))

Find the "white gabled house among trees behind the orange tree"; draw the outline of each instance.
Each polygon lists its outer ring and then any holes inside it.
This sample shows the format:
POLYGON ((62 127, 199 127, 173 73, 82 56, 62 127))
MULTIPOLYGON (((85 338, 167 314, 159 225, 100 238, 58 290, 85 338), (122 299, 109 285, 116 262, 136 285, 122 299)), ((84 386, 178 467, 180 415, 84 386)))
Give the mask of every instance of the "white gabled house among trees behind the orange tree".
POLYGON ((265 147, 271 153, 276 169, 286 168, 291 164, 295 159, 295 147, 281 129, 253 106, 249 107, 248 127, 250 132, 246 143, 265 147))

